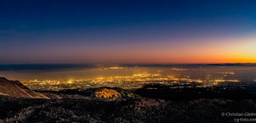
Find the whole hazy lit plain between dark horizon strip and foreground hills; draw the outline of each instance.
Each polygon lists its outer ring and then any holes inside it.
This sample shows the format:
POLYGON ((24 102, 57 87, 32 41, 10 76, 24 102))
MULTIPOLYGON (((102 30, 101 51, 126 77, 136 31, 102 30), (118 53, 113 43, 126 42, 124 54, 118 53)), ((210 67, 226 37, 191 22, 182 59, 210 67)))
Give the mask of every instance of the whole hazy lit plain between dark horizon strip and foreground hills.
POLYGON ((9 76, 12 80, 21 80, 26 87, 40 91, 86 90, 95 87, 133 90, 147 84, 214 87, 237 83, 245 86, 256 82, 254 66, 95 66, 66 70, 5 70, 0 73, 5 77, 12 73, 9 76))

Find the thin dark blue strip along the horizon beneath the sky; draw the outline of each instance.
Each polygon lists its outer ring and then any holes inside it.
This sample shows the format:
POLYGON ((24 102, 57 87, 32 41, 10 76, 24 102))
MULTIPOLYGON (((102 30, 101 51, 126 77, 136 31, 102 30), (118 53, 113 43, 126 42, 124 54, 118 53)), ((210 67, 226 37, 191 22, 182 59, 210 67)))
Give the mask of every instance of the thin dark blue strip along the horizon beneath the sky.
POLYGON ((76 70, 76 69, 86 69, 95 67, 197 67, 197 66, 247 66, 256 67, 256 63, 120 63, 120 64, 106 64, 105 66, 97 64, 0 64, 0 71, 2 70, 76 70))

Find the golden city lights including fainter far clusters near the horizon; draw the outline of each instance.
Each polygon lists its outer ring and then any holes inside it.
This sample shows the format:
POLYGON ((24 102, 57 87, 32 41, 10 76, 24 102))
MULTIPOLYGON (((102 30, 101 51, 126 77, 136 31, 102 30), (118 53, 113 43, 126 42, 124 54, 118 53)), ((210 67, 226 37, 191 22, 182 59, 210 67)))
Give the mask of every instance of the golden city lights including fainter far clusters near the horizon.
MULTIPOLYGON (((102 75, 98 74, 95 77, 77 77, 80 79, 68 79, 68 80, 24 80, 22 84, 33 90, 41 91, 61 91, 67 89, 75 90, 86 90, 88 88, 95 87, 121 87, 126 90, 133 90, 140 87, 144 87, 147 84, 165 84, 165 85, 175 85, 175 87, 212 87, 225 84, 225 82, 244 82, 250 80, 241 80, 237 78, 234 72, 218 72, 207 74, 206 70, 231 70, 236 71, 237 74, 243 74, 244 70, 253 70, 254 67, 244 67, 244 69, 238 69, 237 67, 195 67, 195 68, 161 68, 161 67, 96 67, 89 70, 81 70, 79 74, 83 72, 99 71, 104 72, 102 75), (229 69, 227 69, 229 68, 229 69), (198 71, 195 71, 198 70, 198 71), (150 72, 147 72, 150 71, 150 72), (153 71, 153 72, 152 72, 153 71), (154 72, 157 71, 157 72, 154 72), (171 72, 173 71, 173 72, 171 72), (175 72, 177 71, 177 72, 175 72), (202 73, 199 73, 202 71, 202 73), (116 72, 124 72, 123 75, 115 75, 116 72), (192 72, 192 73, 184 73, 192 72), (130 75, 125 75, 130 73, 130 75), (172 74, 168 74, 172 73, 172 74), (109 74, 111 76, 109 76, 109 74), (199 76, 199 77, 193 77, 199 76), (196 86, 194 84, 197 84, 196 86), (177 86, 178 85, 178 86, 177 86)), ((67 70, 67 74, 68 74, 67 70)), ((63 73, 63 72, 61 72, 63 73)), ((71 72, 72 73, 72 72, 71 72)), ((65 74, 65 73, 63 73, 65 74)), ((247 73, 250 75, 250 73, 247 73)), ((74 78, 74 77, 72 77, 74 78)), ((243 79, 243 78, 242 78, 243 79)), ((255 81, 254 79, 251 82, 255 81)))

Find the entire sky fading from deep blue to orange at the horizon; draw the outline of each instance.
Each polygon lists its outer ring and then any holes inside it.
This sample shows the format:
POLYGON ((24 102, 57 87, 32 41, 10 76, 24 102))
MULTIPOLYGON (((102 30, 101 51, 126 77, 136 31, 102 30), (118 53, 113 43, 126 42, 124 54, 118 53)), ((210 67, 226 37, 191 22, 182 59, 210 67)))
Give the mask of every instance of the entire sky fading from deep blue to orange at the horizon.
POLYGON ((256 63, 256 1, 0 0, 0 63, 256 63))

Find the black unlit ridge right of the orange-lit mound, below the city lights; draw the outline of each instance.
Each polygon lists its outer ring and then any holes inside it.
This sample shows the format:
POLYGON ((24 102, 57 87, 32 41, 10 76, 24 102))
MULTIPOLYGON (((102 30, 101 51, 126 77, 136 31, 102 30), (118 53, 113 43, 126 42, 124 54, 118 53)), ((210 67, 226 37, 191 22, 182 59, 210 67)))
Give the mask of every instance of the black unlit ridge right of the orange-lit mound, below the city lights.
POLYGON ((147 85, 135 91, 142 97, 186 100, 199 98, 228 98, 228 99, 255 99, 256 95, 251 94, 247 89, 241 87, 177 87, 155 84, 147 85))

